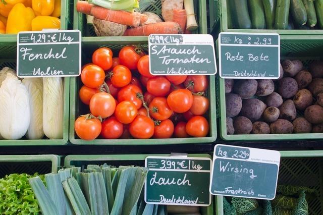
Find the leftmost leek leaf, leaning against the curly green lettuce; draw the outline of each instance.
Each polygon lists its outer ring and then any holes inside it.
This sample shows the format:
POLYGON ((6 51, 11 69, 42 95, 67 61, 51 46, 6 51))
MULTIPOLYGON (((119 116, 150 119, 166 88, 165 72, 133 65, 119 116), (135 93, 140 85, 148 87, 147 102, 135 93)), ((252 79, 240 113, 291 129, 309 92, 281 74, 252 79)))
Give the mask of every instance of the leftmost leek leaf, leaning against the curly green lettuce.
POLYGON ((29 179, 29 184, 37 198, 41 212, 44 215, 59 214, 55 203, 51 200, 50 195, 39 176, 29 179))

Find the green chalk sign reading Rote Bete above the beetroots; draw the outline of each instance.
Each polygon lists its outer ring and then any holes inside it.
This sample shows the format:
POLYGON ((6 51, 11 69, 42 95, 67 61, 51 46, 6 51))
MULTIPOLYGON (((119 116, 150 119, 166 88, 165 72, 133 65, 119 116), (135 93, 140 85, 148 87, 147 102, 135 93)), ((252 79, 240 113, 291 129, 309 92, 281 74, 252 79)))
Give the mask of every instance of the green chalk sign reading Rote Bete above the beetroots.
POLYGON ((279 78, 279 34, 221 32, 218 42, 221 78, 279 78))

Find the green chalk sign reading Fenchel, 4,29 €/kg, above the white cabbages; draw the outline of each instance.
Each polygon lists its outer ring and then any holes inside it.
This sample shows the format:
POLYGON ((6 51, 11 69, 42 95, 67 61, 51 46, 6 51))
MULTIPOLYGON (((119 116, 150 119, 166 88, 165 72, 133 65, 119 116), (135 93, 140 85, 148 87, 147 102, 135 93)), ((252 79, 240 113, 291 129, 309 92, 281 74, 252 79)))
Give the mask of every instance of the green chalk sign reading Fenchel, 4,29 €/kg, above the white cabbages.
POLYGON ((81 73, 81 32, 46 30, 17 35, 19 77, 66 77, 81 73))

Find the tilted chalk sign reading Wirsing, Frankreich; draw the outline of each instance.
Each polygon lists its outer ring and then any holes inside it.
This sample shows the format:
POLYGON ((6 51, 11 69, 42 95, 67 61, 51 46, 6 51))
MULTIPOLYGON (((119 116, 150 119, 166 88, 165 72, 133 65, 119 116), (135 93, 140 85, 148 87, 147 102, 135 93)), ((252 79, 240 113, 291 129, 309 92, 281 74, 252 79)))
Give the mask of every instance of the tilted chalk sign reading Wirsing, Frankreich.
POLYGON ((279 151, 218 144, 209 191, 213 195, 274 199, 279 164, 279 151))

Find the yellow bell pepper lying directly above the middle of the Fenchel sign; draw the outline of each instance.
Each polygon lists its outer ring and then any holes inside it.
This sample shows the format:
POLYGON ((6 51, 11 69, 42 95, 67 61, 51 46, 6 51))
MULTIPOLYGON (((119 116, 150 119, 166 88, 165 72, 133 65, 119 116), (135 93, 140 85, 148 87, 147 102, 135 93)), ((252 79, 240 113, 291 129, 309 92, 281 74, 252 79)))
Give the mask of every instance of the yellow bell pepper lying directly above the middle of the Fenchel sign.
POLYGON ((31 22, 32 31, 41 31, 44 28, 58 28, 61 27, 61 20, 56 17, 38 16, 31 22))

